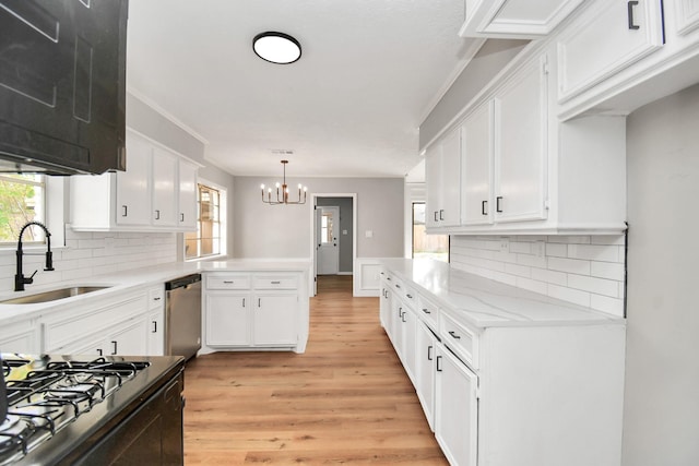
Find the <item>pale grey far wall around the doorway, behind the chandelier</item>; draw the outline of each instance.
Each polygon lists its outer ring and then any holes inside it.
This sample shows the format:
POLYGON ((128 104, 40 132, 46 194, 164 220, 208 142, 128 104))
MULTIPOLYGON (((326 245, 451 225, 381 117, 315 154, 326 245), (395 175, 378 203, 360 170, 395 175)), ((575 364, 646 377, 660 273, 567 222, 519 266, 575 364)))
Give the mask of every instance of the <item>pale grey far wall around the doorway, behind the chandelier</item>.
MULTIPOLYGON (((403 255, 402 178, 293 178, 287 183, 308 186, 305 205, 266 205, 260 184, 273 177, 236 177, 233 194, 235 258, 310 259, 311 193, 357 193, 357 258, 403 255), (366 231, 372 232, 371 238, 366 231)), ((292 198, 293 198, 292 193, 292 198)))

